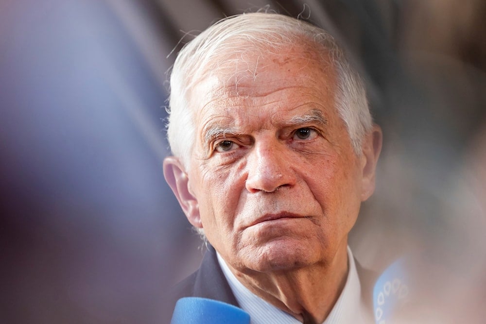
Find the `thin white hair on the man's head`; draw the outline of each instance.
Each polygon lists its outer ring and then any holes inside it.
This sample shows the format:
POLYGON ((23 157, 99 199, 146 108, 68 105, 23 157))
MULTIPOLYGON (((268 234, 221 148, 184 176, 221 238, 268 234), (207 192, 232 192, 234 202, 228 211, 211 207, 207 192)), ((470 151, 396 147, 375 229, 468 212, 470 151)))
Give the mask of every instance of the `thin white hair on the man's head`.
MULTIPOLYGON (((247 13, 227 17, 210 26, 178 53, 170 78, 171 96, 167 136, 172 153, 186 170, 195 141, 191 90, 216 73, 221 64, 244 63, 244 53, 274 52, 310 44, 337 72, 336 108, 347 127, 356 154, 372 128, 364 82, 350 66, 332 36, 302 20, 275 13, 247 13)), ((249 69, 251 67, 248 67, 249 69)), ((250 69, 251 70, 251 69, 250 69)))

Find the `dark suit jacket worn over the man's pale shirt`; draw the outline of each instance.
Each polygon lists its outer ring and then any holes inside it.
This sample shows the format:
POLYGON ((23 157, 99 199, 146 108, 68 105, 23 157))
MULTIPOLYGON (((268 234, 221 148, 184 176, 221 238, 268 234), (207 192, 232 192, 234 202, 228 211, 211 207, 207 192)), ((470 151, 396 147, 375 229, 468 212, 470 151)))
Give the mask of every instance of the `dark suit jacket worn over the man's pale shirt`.
MULTIPOLYGON (((357 261, 355 263, 361 283, 362 298, 372 313, 373 285, 378 276, 364 269, 357 261)), ((212 246, 209 246, 199 269, 177 284, 166 296, 164 312, 167 314, 164 314, 165 322, 162 323, 170 323, 175 303, 182 297, 204 297, 240 307, 219 266, 216 251, 212 246)))

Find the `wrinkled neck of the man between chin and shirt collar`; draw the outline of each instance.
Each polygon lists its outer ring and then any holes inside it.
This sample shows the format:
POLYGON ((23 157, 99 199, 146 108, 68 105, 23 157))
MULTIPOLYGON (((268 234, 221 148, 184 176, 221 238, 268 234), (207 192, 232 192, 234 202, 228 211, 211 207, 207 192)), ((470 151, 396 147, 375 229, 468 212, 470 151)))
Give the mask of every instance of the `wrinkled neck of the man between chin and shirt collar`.
POLYGON ((330 262, 290 271, 243 273, 228 266, 246 288, 263 300, 305 324, 322 323, 346 284, 347 246, 341 250, 330 262))

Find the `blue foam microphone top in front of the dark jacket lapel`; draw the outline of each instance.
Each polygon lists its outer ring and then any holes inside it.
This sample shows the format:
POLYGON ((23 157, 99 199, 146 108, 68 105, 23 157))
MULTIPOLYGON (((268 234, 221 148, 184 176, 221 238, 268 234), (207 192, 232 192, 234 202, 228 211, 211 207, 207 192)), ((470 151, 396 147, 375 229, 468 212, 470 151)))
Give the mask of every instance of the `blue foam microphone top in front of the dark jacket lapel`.
POLYGON ((250 315, 213 299, 184 297, 175 304, 171 324, 250 324, 250 315))

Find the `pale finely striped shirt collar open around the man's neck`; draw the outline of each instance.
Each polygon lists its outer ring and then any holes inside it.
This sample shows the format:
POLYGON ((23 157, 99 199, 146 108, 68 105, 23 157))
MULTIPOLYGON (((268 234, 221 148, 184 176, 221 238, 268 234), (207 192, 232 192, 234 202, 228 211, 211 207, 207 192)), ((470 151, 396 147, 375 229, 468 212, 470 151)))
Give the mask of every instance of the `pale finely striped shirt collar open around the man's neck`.
MULTIPOLYGON (((347 247, 347 259, 349 271, 347 273, 346 284, 323 324, 373 323, 372 318, 368 315, 369 310, 366 309, 361 299, 361 284, 358 279, 354 258, 349 247, 347 247)), ((229 270, 226 262, 219 254, 218 262, 221 269, 223 269, 226 280, 228 281, 236 300, 240 304, 240 307, 250 314, 251 324, 301 323, 294 316, 267 303, 243 286, 243 284, 229 270)))

